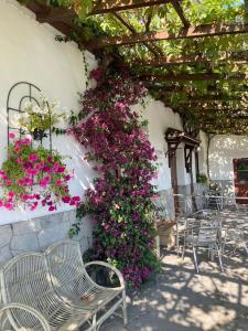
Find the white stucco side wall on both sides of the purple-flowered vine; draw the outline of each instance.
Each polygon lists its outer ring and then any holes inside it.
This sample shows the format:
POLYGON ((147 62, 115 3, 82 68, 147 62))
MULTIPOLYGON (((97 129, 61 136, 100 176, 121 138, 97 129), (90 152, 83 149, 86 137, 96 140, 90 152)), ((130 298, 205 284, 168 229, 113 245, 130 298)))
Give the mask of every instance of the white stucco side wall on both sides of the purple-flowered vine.
MULTIPOLYGON (((48 24, 39 23, 35 15, 17 1, 0 1, 0 164, 7 157, 7 97, 15 83, 24 81, 35 84, 48 99, 58 100, 63 111, 78 110, 77 94, 86 88, 83 55, 75 43, 56 42, 56 34, 60 33, 48 24)), ((95 57, 88 52, 86 60, 89 71, 97 66, 95 57)), ((151 97, 148 97, 145 109, 140 105, 134 108, 142 111, 143 118, 149 120, 149 137, 159 157, 159 175, 154 183, 160 191, 170 189, 171 173, 165 157, 168 146, 164 132, 169 127, 182 129, 180 117, 151 97)), ((69 183, 71 193, 83 196, 96 173, 84 160, 79 145, 72 137, 53 136, 53 148, 71 157, 66 159, 68 168, 75 170, 75 178, 69 183)), ((179 184, 190 183, 184 160, 179 166, 179 184)), ((56 212, 69 209, 67 205, 61 205, 56 212)), ((0 225, 26 221, 47 213, 45 209, 34 212, 8 212, 1 209, 0 225)))

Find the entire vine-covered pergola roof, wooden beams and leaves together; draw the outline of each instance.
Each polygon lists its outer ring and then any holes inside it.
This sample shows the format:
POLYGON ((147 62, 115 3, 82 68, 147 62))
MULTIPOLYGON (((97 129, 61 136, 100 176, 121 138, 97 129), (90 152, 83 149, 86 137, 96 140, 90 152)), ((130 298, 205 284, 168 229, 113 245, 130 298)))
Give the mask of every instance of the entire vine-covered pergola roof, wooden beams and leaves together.
POLYGON ((248 132, 248 0, 48 2, 28 7, 39 21, 76 32, 94 53, 120 56, 116 65, 128 66, 187 126, 248 132))

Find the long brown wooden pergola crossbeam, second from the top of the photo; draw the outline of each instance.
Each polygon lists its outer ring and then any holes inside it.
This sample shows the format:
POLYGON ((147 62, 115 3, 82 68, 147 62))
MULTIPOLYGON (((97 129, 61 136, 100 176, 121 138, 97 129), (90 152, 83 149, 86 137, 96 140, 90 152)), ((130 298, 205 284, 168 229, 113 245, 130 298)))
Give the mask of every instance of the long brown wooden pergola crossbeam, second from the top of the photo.
POLYGON ((248 24, 206 24, 198 26, 182 28, 177 33, 169 31, 142 32, 132 35, 109 36, 97 39, 88 43, 88 47, 103 49, 106 46, 131 45, 143 42, 155 42, 161 40, 197 39, 204 36, 216 36, 226 34, 248 33, 248 24))

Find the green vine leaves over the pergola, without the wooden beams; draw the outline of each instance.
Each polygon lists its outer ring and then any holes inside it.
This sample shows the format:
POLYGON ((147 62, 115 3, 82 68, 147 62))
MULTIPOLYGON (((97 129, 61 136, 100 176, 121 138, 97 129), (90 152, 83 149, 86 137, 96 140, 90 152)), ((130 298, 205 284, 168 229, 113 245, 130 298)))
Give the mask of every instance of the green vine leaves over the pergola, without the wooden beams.
MULTIPOLYGON (((50 6, 64 6, 74 9, 78 13, 76 23, 82 28, 85 40, 115 36, 128 34, 131 32, 125 26, 114 13, 89 15, 94 8, 93 0, 47 0, 50 6)), ((183 12, 191 25, 202 25, 211 23, 241 24, 248 22, 248 1, 247 0, 201 0, 191 1, 182 0, 183 12)), ((183 28, 183 23, 176 13, 172 3, 147 7, 136 10, 126 10, 120 12, 122 18, 129 22, 136 32, 161 31, 177 32, 183 28)), ((244 74, 248 72, 248 33, 236 35, 208 36, 200 39, 182 39, 171 41, 159 41, 150 43, 150 46, 159 49, 161 56, 188 56, 202 55, 209 58, 208 63, 190 63, 182 65, 170 65, 160 67, 150 67, 144 65, 149 60, 154 58, 151 47, 140 43, 128 46, 109 46, 105 51, 114 52, 121 56, 129 65, 134 75, 149 74, 201 74, 217 73, 224 78, 216 82, 175 82, 175 87, 182 87, 182 92, 171 93, 166 95, 166 100, 177 111, 187 118, 191 117, 192 122, 200 122, 203 126, 202 118, 195 113, 185 111, 188 100, 194 96, 208 94, 208 88, 214 87, 219 94, 236 96, 236 88, 241 87, 242 93, 239 102, 235 106, 248 108, 244 106, 244 98, 247 95, 247 81, 226 81, 225 77, 233 74, 244 74), (237 62, 239 60, 239 62, 237 62), (242 61, 244 60, 244 61, 242 61), (241 61, 241 62, 240 62, 241 61), (184 106, 182 107, 182 104, 184 106), (193 118, 192 118, 193 117, 193 118)), ((171 86, 172 82, 162 82, 161 87, 171 86)), ((154 87, 153 89, 155 89, 154 87)), ((161 88, 160 88, 161 90, 161 88)), ((153 90, 157 98, 164 99, 164 93, 153 90)), ((225 98, 224 98, 225 99, 225 98)), ((233 104, 229 104, 233 107, 233 104)), ((246 104, 247 105, 247 104, 246 104)), ((247 110, 248 111, 248 110, 247 110)), ((223 127, 234 129, 228 121, 223 127)), ((239 126, 240 127, 240 126, 239 126)), ((245 127, 245 126, 244 126, 245 127)), ((242 130, 244 130, 242 127, 242 130)), ((205 127, 207 130, 207 128, 205 127)))

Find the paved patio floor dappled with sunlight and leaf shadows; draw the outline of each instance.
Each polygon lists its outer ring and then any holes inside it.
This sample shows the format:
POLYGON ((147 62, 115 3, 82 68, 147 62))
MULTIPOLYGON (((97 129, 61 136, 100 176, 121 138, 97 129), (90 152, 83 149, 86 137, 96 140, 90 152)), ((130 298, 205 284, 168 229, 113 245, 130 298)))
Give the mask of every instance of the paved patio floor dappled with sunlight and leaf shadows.
MULTIPOLYGON (((224 211, 220 217, 230 227, 248 224, 248 210, 224 211)), ((248 256, 227 246, 223 261, 225 273, 202 255, 197 275, 190 252, 183 261, 174 250, 162 252, 160 275, 128 297, 128 328, 111 318, 100 331, 247 331, 248 256)))

